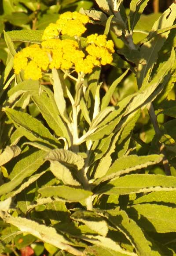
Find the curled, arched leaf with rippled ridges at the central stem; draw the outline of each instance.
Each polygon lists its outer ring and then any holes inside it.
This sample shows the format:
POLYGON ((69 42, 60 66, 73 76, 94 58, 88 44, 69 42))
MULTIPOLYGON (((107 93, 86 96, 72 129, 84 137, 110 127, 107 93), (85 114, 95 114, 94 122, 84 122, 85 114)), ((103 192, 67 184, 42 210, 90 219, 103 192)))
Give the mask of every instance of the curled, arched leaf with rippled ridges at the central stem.
POLYGON ((45 160, 57 160, 72 168, 81 170, 84 167, 84 158, 70 150, 54 149, 48 153, 45 160))

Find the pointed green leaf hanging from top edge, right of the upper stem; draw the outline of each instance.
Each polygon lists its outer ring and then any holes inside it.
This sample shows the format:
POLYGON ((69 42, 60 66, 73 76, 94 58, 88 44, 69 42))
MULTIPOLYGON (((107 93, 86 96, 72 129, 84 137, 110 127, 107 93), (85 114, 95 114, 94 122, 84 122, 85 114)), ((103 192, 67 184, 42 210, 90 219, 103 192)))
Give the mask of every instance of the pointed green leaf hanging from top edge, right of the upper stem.
POLYGON ((149 0, 132 0, 130 3, 130 28, 134 30, 140 15, 143 13, 144 8, 147 6, 149 0))

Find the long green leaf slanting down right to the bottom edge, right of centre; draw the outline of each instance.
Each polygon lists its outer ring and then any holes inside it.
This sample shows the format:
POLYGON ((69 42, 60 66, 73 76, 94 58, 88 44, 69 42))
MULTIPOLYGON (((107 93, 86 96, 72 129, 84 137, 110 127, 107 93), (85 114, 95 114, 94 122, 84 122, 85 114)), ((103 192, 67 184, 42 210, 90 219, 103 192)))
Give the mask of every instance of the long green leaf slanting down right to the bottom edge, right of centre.
POLYGON ((124 210, 108 210, 107 217, 108 221, 125 234, 136 249, 138 255, 160 256, 159 252, 152 249, 153 245, 147 240, 142 229, 128 217, 124 210))

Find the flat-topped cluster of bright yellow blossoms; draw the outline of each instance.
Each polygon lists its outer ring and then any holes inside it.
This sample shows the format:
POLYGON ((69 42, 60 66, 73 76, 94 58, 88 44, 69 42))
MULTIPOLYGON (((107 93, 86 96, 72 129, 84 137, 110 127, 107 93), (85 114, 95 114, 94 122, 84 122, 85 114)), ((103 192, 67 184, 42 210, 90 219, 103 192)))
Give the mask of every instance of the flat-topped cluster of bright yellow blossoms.
POLYGON ((95 66, 110 64, 114 44, 106 40, 106 35, 91 34, 87 37, 87 47, 81 48, 79 39, 88 22, 87 15, 76 11, 61 14, 56 23, 45 29, 41 45, 26 47, 15 55, 15 73, 24 70, 25 79, 38 80, 48 69, 71 69, 88 74, 95 66), (59 36, 64 34, 74 39, 61 40, 59 36))

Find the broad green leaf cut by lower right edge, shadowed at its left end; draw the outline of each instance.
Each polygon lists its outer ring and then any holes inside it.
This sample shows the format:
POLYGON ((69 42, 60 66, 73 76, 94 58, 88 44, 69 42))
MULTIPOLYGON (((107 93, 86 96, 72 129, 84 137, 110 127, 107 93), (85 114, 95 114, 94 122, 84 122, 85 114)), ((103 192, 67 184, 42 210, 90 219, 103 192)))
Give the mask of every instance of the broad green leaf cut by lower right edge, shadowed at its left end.
POLYGON ((176 207, 151 203, 136 204, 128 209, 128 214, 148 231, 176 232, 176 207))

